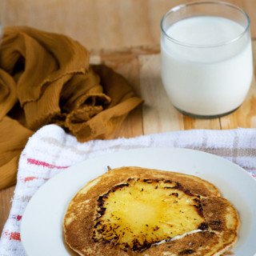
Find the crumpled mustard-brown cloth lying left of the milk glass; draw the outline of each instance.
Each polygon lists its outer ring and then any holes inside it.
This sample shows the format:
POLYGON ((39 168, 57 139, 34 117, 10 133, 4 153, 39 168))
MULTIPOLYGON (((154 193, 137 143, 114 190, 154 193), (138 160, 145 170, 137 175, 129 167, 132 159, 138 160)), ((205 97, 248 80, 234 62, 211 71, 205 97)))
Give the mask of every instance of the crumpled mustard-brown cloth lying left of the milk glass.
POLYGON ((6 28, 0 46, 0 189, 13 185, 27 139, 56 123, 86 142, 108 138, 142 99, 62 34, 6 28))

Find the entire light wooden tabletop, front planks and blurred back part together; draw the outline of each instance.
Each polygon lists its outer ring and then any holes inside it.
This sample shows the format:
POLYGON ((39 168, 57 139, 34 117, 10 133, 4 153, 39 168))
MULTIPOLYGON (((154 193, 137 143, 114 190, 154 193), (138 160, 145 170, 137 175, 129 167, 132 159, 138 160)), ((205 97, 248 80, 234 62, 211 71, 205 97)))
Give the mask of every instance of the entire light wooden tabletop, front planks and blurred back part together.
MULTIPOLYGON (((256 127, 256 86, 246 102, 223 118, 194 119, 170 105, 162 88, 159 20, 182 0, 2 0, 4 26, 26 25, 70 35, 91 50, 91 62, 104 62, 123 74, 145 104, 134 110, 114 138, 168 130, 256 127)), ((227 1, 244 8, 251 19, 256 56, 256 1, 227 1)), ((256 59, 256 58, 254 58, 256 59)), ((255 69, 254 69, 255 70, 255 69)), ((14 186, 0 191, 0 231, 10 211, 14 186)))

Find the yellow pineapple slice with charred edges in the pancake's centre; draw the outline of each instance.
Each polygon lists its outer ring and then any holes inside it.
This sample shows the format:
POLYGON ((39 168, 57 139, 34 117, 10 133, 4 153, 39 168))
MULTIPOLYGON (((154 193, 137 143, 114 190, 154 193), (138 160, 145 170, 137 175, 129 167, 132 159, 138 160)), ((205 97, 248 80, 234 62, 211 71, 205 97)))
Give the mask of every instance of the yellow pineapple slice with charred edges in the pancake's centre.
POLYGON ((142 251, 203 222, 199 197, 177 182, 130 178, 98 198, 94 241, 142 251))

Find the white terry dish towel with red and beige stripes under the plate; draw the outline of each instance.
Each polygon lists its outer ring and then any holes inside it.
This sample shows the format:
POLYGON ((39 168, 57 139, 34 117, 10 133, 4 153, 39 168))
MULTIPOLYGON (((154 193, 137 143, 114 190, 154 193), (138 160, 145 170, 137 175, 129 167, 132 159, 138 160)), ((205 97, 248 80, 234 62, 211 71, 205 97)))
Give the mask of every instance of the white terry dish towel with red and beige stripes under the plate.
POLYGON ((12 207, 2 230, 0 255, 26 255, 20 238, 22 214, 30 198, 48 179, 88 158, 142 147, 182 147, 217 154, 256 178, 256 129, 186 130, 79 143, 58 126, 44 126, 30 138, 20 157, 12 207))

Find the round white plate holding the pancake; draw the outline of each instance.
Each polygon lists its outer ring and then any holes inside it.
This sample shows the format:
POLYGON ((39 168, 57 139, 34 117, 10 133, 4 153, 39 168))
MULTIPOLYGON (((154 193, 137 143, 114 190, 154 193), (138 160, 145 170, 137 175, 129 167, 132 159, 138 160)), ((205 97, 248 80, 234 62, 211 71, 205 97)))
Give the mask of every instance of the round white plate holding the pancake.
POLYGON ((150 148, 122 150, 71 166, 46 182, 31 198, 22 217, 21 237, 28 256, 70 255, 62 242, 62 219, 74 194, 106 166, 142 166, 194 174, 212 182, 238 210, 241 229, 234 253, 256 253, 256 182, 241 167, 196 150, 150 148))

